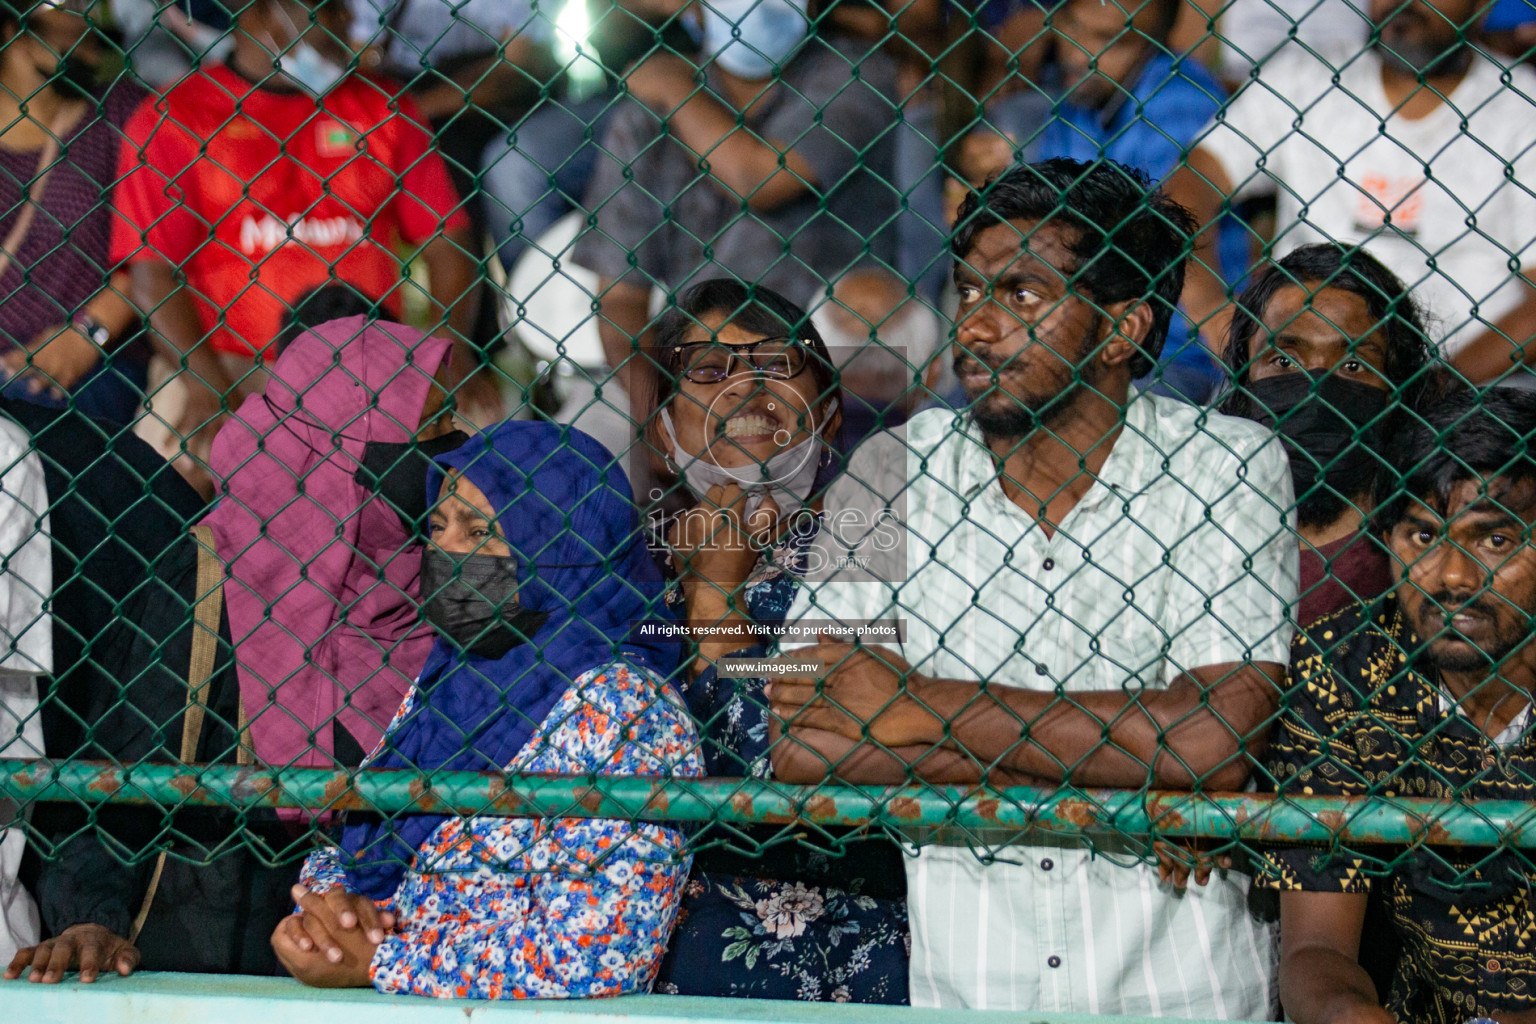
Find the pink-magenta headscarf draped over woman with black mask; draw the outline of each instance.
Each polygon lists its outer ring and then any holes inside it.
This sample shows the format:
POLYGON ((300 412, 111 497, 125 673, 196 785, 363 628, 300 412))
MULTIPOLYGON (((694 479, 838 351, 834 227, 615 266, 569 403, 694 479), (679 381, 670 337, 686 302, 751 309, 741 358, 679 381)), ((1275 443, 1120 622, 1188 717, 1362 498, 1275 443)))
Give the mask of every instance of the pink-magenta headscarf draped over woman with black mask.
POLYGON ((364 316, 296 338, 214 441, 204 517, 227 577, 257 758, 332 766, 332 722, 369 749, 432 649, 421 548, 355 479, 369 441, 407 441, 449 342, 364 316))

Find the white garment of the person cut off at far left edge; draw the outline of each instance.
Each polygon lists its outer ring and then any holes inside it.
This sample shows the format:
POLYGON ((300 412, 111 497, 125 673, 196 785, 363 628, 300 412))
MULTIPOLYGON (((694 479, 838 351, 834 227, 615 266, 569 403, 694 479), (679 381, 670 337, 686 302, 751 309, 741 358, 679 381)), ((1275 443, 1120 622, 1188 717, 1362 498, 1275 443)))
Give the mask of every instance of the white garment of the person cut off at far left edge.
MULTIPOLYGON (((52 545, 43 464, 22 427, 0 418, 0 757, 43 755, 37 677, 54 668, 52 545)), ((17 869, 26 837, 11 827, 17 806, 0 798, 0 964, 37 943, 37 906, 17 869)))

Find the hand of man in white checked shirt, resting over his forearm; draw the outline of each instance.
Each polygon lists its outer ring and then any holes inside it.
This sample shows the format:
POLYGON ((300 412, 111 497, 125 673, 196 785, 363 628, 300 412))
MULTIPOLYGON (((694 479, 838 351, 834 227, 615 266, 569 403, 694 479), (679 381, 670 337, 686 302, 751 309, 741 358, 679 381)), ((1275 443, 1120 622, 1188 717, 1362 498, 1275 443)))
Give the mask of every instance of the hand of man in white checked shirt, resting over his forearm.
POLYGON ((945 742, 946 723, 919 695, 926 677, 895 651, 820 634, 814 648, 786 657, 803 662, 806 676, 776 677, 765 692, 791 731, 820 729, 888 748, 945 742))

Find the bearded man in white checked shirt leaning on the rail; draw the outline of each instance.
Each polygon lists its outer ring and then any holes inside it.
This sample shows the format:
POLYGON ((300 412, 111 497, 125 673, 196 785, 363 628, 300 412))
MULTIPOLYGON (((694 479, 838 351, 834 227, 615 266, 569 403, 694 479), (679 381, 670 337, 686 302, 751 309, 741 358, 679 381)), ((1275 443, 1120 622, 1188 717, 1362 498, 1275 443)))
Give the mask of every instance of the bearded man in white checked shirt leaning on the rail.
MULTIPOLYGON (((954 362, 969 410, 854 453, 826 499, 828 570, 788 619, 899 619, 905 637, 794 656, 820 682, 771 683, 780 778, 1246 783, 1292 633, 1292 487, 1256 424, 1132 395, 1166 338, 1189 224, 1111 161, 1017 167, 966 201, 954 362), (849 531, 869 519, 857 510, 894 516, 905 543, 849 531)), ((1178 890, 1112 829, 912 838, 917 1006, 1276 1009, 1273 929, 1236 872, 1178 890)))

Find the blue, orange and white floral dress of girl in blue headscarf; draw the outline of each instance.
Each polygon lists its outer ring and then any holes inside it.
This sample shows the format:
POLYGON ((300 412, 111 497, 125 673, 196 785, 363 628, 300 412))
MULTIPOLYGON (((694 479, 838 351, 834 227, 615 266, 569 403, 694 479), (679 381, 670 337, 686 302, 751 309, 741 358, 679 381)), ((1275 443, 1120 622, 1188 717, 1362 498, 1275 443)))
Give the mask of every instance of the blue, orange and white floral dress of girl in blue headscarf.
MULTIPOLYGON (((406 697, 395 722, 415 703, 406 697)), ((393 725, 392 725, 393 728, 393 725)), ((584 674, 508 772, 702 775, 671 686, 644 669, 584 674)), ((647 992, 677 917, 690 858, 673 827, 605 818, 450 818, 389 900, 398 926, 373 955, 379 992, 441 998, 579 998, 647 992)), ((347 886, 338 851, 301 881, 347 886)))

